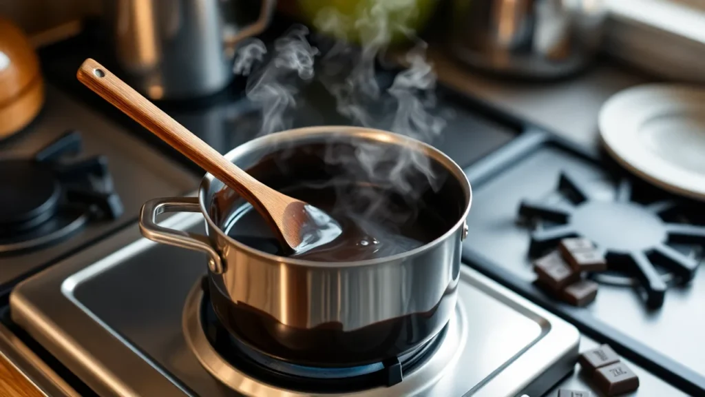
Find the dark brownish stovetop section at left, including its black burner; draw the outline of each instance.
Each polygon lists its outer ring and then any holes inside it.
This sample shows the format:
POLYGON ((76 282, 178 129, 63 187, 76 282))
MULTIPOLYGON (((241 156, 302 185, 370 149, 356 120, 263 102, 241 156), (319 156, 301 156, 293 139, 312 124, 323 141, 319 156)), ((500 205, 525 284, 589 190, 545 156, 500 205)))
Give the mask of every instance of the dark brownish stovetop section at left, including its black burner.
POLYGON ((39 117, 0 142, 0 296, 197 180, 50 83, 39 117))

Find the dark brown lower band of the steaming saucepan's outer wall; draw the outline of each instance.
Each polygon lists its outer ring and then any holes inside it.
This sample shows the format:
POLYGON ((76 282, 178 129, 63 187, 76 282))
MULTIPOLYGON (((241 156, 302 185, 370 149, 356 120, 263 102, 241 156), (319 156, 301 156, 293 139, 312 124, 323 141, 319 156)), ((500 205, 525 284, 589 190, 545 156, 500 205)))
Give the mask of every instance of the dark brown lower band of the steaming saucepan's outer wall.
POLYGON ((210 283, 213 308, 228 331, 240 341, 278 360, 315 367, 354 367, 398 357, 427 342, 448 323, 455 308, 449 288, 429 312, 400 316, 343 331, 337 322, 295 328, 242 302, 235 304, 210 283))

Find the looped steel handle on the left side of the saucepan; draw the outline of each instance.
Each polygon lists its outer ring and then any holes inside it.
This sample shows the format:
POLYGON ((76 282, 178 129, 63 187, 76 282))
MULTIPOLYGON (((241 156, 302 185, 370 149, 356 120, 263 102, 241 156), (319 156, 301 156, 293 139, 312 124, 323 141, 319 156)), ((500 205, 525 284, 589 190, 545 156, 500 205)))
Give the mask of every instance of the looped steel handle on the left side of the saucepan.
POLYGON ((147 239, 161 244, 173 245, 202 251, 208 254, 208 267, 213 273, 223 273, 220 255, 211 246, 208 237, 183 230, 169 229, 158 225, 157 215, 161 213, 197 213, 201 208, 197 197, 164 197, 147 201, 140 211, 140 232, 147 239))

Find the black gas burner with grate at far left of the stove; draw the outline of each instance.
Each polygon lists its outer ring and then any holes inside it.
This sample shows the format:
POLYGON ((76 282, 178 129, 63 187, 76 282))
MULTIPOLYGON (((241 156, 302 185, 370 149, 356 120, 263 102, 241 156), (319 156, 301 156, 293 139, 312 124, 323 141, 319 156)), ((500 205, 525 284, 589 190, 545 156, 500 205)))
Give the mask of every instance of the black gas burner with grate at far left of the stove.
POLYGON ((123 213, 104 156, 62 161, 81 146, 78 131, 67 131, 29 158, 0 160, 0 254, 53 244, 123 213))

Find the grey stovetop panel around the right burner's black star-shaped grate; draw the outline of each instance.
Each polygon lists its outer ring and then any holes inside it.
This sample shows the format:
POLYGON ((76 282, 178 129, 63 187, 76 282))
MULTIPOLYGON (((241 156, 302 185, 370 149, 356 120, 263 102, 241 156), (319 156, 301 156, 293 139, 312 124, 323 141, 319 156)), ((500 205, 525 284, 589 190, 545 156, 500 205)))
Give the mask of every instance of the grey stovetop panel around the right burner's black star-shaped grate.
MULTIPOLYGON (((689 283, 678 283, 678 280, 670 280, 666 269, 656 267, 667 285, 662 307, 646 305, 644 290, 632 281, 630 274, 633 273, 629 272, 596 275, 594 280, 599 283, 596 300, 584 308, 571 307, 533 284, 537 275, 529 259, 530 233, 540 226, 520 220, 518 215, 522 200, 552 203, 554 208, 560 208, 556 189, 562 173, 580 180, 581 188, 591 199, 601 203, 615 200, 623 178, 633 182, 635 201, 644 200, 645 196, 649 196, 651 202, 678 198, 635 181, 625 172, 609 166, 609 162, 598 163, 591 160, 591 155, 577 154, 550 137, 539 134, 528 138, 498 150, 496 155, 469 170, 474 200, 463 249, 465 259, 484 273, 557 310, 581 330, 601 333, 613 340, 615 345, 626 348, 620 351, 623 354, 636 352, 654 364, 657 372, 676 379, 678 384, 687 384, 692 393, 701 393, 705 387, 705 362, 701 360, 705 345, 697 343, 701 338, 700 330, 705 327, 705 319, 697 315, 705 304, 705 273, 701 269, 689 283)), ((683 203, 678 208, 685 213, 701 208, 701 204, 683 203)), ((606 228, 604 235, 613 234, 618 228, 618 232, 631 233, 638 241, 639 233, 644 232, 639 227, 614 225, 611 219, 596 217, 594 222, 596 230, 599 231, 600 225, 606 228)), ((702 225, 697 218, 691 218, 691 222, 702 225)), ((701 260, 702 251, 697 244, 669 245, 695 263, 701 260)))

